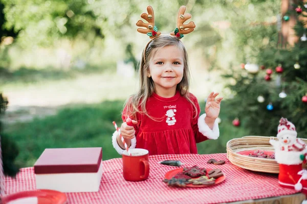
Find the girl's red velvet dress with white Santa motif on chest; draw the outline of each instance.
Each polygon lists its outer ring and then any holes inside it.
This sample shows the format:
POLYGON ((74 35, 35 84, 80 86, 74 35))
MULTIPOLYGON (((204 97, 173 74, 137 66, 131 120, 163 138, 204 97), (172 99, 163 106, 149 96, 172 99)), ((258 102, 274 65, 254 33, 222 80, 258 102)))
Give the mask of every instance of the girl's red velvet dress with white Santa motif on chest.
MULTIPOLYGON (((190 98, 197 113, 179 92, 170 98, 153 93, 147 100, 146 109, 148 114, 158 121, 144 114, 137 115, 136 148, 147 149, 149 155, 197 154, 196 143, 208 138, 199 132, 198 119, 201 111, 198 100, 193 94, 190 94, 190 98)), ((126 117, 124 108, 123 121, 126 117)))

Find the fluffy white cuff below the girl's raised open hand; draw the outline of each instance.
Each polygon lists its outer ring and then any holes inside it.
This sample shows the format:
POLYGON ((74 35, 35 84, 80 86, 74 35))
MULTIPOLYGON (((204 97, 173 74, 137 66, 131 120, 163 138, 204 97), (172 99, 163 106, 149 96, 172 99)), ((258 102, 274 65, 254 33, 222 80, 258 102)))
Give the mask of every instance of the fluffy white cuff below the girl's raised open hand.
POLYGON ((199 117, 198 120, 199 131, 208 139, 216 140, 218 136, 220 136, 220 130, 218 129, 218 122, 217 120, 214 121, 213 128, 211 130, 210 127, 206 124, 205 118, 206 118, 205 113, 199 117))

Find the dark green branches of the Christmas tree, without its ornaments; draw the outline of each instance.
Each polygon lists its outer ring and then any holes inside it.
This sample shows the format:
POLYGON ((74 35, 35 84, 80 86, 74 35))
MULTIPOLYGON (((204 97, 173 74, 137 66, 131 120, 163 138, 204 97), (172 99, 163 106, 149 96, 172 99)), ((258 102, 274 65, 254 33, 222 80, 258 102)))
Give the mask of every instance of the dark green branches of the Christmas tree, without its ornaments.
MULTIPOLYGON (((302 27, 301 22, 296 24, 298 36, 302 35, 302 27)), ((236 107, 229 110, 230 115, 244 121, 243 128, 250 134, 268 136, 277 134, 281 117, 288 118, 296 125, 298 137, 306 138, 307 106, 301 98, 307 93, 307 42, 298 41, 292 48, 278 49, 276 40, 272 39, 266 46, 260 47, 253 58, 257 64, 273 70, 272 80, 265 81, 266 70, 250 74, 246 70, 230 69, 224 75, 235 82, 228 85, 234 94, 230 107, 236 107), (295 63, 299 63, 301 68, 295 69, 295 63), (282 73, 274 71, 279 64, 283 68, 282 73), (287 97, 279 97, 282 91, 287 93, 287 97), (259 95, 264 96, 264 103, 257 101, 259 95), (274 107, 272 111, 267 110, 270 103, 274 107)))

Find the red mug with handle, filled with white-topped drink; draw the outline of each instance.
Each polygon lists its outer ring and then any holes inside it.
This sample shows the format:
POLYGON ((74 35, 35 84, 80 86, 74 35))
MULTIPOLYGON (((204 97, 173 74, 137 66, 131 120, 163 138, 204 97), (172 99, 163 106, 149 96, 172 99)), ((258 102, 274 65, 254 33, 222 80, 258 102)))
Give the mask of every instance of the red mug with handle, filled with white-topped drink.
POLYGON ((146 180, 149 176, 148 150, 146 149, 129 149, 122 154, 123 158, 123 176, 126 181, 138 182, 146 180))

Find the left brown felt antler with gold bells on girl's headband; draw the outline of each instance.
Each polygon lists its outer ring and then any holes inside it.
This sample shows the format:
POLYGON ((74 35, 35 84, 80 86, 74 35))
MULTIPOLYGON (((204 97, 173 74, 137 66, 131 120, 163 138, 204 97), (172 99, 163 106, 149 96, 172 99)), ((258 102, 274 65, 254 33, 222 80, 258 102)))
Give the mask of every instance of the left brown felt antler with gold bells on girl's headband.
POLYGON ((148 23, 144 23, 142 20, 137 22, 138 27, 145 27, 146 29, 138 28, 138 32, 147 34, 150 38, 155 38, 161 34, 158 32, 158 28, 155 26, 155 15, 153 15, 153 9, 151 6, 147 7, 147 13, 142 13, 141 18, 145 19, 148 23))

